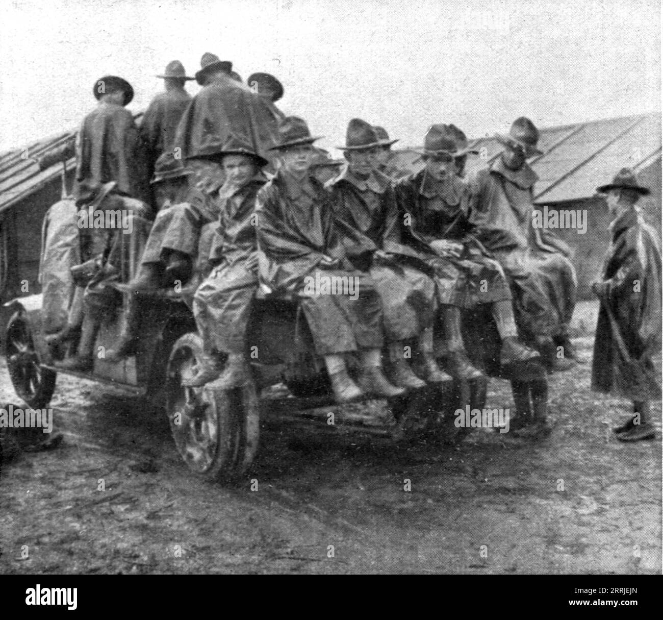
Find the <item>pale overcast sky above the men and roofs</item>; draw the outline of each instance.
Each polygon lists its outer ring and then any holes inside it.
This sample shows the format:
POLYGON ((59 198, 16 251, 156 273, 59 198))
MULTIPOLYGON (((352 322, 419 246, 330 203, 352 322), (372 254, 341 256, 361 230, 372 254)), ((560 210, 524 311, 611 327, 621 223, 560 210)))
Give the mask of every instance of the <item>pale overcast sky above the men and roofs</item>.
MULTIPOLYGON (((174 58, 275 74, 279 106, 343 144, 352 117, 418 145, 520 115, 540 127, 660 109, 656 0, 1 0, 0 149, 78 126, 105 74, 143 109, 174 58)), ((195 82, 188 89, 198 90, 195 82), (193 84, 193 86, 192 86, 193 84)), ((398 145, 396 145, 398 146, 398 145)))

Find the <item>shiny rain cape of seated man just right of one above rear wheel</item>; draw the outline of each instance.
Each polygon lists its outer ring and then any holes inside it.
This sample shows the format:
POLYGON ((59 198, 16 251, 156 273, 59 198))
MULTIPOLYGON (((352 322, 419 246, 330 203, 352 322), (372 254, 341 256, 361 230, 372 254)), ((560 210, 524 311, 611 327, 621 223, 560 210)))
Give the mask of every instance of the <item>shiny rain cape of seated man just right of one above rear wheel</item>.
POLYGON ((261 288, 299 300, 316 352, 328 355, 381 347, 379 296, 370 277, 355 271, 343 257, 322 184, 314 177, 303 184, 292 182, 278 172, 258 192, 256 213, 261 288), (331 269, 327 259, 337 259, 339 264, 331 269), (322 288, 312 294, 308 288, 312 279, 323 278, 352 281, 357 297, 342 290, 325 294, 322 288))

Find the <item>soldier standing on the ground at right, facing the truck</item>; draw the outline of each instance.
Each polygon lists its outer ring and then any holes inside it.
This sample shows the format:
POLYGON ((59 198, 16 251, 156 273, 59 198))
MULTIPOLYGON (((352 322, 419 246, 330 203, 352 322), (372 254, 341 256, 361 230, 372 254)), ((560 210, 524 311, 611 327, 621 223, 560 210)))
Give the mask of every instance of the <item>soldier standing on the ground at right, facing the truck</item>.
POLYGON ((661 347, 661 250, 637 204, 650 190, 628 168, 597 190, 606 194, 612 221, 601 280, 592 285, 601 308, 591 387, 633 402, 633 416, 615 428, 617 439, 652 439, 649 403, 661 397, 652 361, 661 347))

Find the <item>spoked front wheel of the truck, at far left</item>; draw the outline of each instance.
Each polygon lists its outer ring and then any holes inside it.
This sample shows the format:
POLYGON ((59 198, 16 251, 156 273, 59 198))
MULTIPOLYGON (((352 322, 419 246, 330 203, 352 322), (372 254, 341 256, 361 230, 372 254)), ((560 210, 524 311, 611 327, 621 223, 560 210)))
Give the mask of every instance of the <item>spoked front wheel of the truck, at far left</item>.
POLYGON ((16 312, 7 324, 7 367, 17 395, 33 409, 50 403, 56 373, 41 365, 34 349, 30 325, 16 312))

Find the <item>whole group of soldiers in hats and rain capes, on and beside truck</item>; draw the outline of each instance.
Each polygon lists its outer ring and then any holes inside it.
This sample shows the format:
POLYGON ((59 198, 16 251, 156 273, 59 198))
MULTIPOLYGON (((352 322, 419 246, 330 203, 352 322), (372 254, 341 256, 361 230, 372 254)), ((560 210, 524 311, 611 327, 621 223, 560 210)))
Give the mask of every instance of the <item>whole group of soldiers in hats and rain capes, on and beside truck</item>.
MULTIPOLYGON (((304 119, 276 107, 284 90, 270 74, 243 84, 231 62, 207 53, 195 78, 177 60, 158 77, 165 90, 140 127, 125 107, 131 85, 117 76, 95 82, 99 105, 77 141, 76 206, 130 212, 133 227, 129 234, 80 231, 81 265, 72 270, 78 304, 66 327, 48 336, 56 345, 80 334, 61 367, 91 370, 99 326, 121 303, 120 291, 131 293, 127 322, 106 359, 134 355, 141 300, 178 283, 191 288, 204 341, 193 386, 231 389, 249 380, 247 326, 257 295, 298 302, 338 403, 482 377, 461 329, 463 311, 478 304, 487 304, 495 321, 502 367, 537 359, 551 371, 573 367, 572 251, 532 223, 538 177, 527 160, 542 154, 532 121, 520 117, 497 135, 503 153, 468 182, 465 161, 476 151, 454 125, 428 129, 424 167, 410 175, 394 164, 396 140, 362 119, 347 125, 345 145, 337 147, 344 158, 331 159, 304 119), (184 85, 193 79, 202 89, 190 97, 184 85), (357 295, 312 292, 306 283, 322 276, 355 282, 357 295), (356 379, 346 365, 351 352, 359 360, 356 379)), ((660 251, 636 206, 648 190, 629 174, 599 188, 615 205, 613 243, 621 245, 611 248, 595 290, 603 299, 599 330, 609 331, 609 308, 618 321, 630 317, 627 352, 646 357, 656 345, 651 323, 660 323, 660 251), (622 298, 631 272, 646 281, 646 294, 622 298)), ((623 382, 601 368, 625 363, 623 349, 616 355, 617 343, 605 338, 597 347, 595 387, 628 395, 643 418, 617 436, 650 438, 652 368, 640 365, 646 394, 620 391, 623 382)), ((527 434, 545 425, 515 428, 527 434)))

